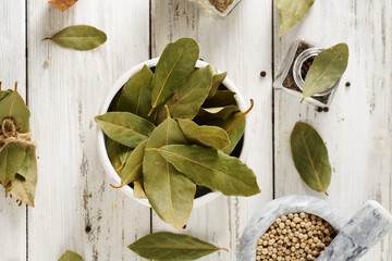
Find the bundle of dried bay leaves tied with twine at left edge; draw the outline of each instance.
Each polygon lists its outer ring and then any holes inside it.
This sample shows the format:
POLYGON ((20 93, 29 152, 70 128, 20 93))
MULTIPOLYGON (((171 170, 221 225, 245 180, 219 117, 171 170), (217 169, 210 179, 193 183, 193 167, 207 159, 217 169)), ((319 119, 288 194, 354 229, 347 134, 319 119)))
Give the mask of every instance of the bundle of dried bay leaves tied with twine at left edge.
POLYGON ((36 144, 30 140, 29 111, 15 90, 1 90, 0 83, 0 183, 5 195, 34 207, 37 185, 36 144))

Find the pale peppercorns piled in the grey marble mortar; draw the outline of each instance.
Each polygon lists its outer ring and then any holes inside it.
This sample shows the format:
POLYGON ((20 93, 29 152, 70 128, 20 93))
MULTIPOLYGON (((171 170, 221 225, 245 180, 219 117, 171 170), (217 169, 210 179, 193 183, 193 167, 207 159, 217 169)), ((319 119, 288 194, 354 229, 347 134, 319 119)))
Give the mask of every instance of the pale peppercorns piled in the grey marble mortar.
POLYGON ((275 220, 257 240, 256 260, 316 260, 336 233, 319 216, 290 213, 275 220))

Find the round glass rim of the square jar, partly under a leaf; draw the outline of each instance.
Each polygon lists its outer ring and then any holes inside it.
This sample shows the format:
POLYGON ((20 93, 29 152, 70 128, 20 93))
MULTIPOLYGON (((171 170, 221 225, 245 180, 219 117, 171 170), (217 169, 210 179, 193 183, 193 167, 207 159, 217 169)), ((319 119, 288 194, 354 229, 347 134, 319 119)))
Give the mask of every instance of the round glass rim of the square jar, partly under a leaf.
MULTIPOLYGON (((308 60, 309 58, 313 57, 317 57, 320 52, 322 52, 324 49, 323 48, 309 48, 306 49, 305 51, 303 51, 294 61, 294 65, 293 65, 293 77, 294 77, 294 82, 295 84, 298 86, 298 88, 303 91, 304 89, 304 85, 305 85, 305 80, 302 77, 301 74, 301 70, 302 66, 304 65, 304 62, 306 60, 308 60)), ((314 95, 315 97, 322 97, 326 95, 329 95, 332 92, 333 89, 336 88, 335 83, 333 83, 328 89, 314 95)))

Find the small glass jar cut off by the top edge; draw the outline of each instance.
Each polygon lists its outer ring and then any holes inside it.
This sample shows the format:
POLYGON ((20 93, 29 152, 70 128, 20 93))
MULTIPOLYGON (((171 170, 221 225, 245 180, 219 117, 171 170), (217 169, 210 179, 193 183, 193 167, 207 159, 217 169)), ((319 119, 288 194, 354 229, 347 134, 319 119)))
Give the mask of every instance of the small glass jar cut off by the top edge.
POLYGON ((215 18, 225 17, 241 0, 189 0, 215 18))

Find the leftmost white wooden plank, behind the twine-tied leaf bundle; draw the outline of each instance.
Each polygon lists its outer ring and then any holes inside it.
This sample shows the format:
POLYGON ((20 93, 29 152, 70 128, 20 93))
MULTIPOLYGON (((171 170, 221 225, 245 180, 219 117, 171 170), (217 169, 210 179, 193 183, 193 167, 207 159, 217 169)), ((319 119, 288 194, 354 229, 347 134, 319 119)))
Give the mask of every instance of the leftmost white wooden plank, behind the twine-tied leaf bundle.
MULTIPOLYGON (((0 82, 2 89, 13 89, 19 82, 19 91, 26 97, 26 40, 25 1, 0 2, 0 82)), ((4 198, 0 186, 0 259, 26 259, 26 207, 17 207, 15 199, 4 198)))

